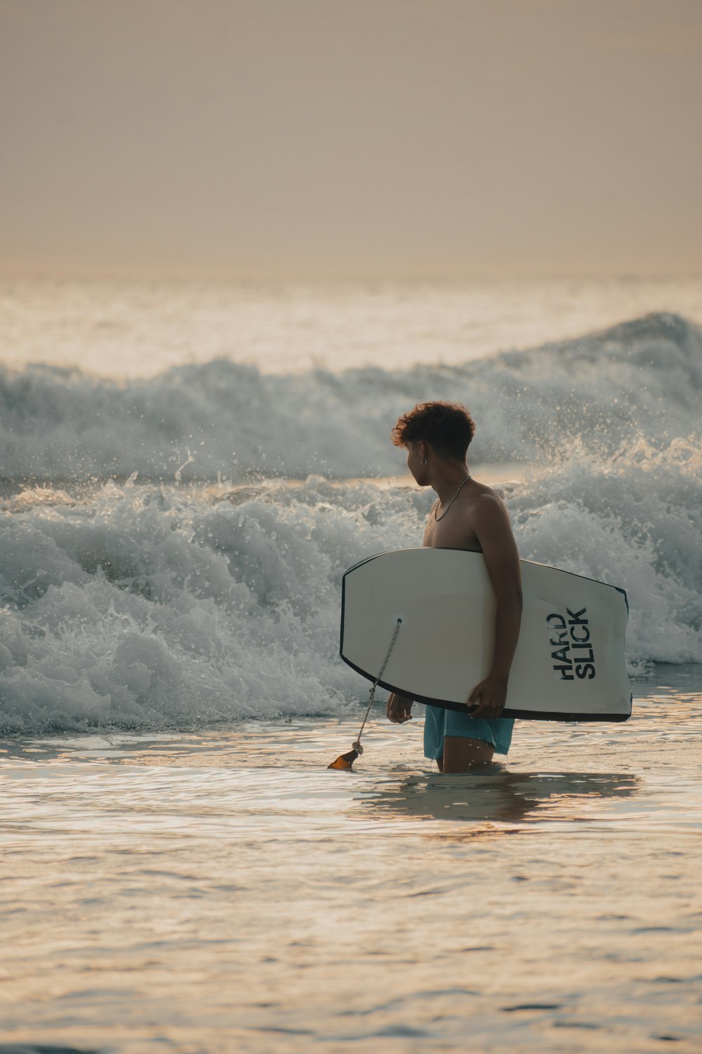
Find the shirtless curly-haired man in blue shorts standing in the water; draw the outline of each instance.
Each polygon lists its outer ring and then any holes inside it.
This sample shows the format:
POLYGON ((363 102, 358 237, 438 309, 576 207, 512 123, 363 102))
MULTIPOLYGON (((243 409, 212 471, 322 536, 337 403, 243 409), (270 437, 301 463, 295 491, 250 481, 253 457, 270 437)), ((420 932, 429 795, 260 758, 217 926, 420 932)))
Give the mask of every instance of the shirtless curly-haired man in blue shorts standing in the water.
MULTIPOLYGON (((517 543, 504 503, 489 487, 474 480, 466 452, 475 425, 467 410, 453 403, 423 403, 400 417, 393 443, 407 448, 407 468, 420 487, 439 495, 424 530, 424 545, 435 549, 482 552, 497 598, 495 656, 487 677, 476 684, 465 714, 426 707, 424 754, 442 773, 464 773, 476 762, 506 754, 514 721, 501 718, 509 667, 517 647, 522 613, 522 585, 517 543)), ((413 700, 393 694, 387 717, 402 724, 412 719, 413 700)))

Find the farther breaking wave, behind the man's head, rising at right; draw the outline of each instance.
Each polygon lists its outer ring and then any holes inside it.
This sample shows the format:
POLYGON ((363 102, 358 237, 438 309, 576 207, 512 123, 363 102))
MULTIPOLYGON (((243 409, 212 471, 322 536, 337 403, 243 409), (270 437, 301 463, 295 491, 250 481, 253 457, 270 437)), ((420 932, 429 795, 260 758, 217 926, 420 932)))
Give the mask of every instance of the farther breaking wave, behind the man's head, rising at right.
POLYGON ((0 369, 2 475, 37 481, 392 475, 397 416, 465 403, 480 462, 551 461, 582 440, 613 453, 643 431, 665 445, 699 428, 702 331, 655 314, 463 366, 267 375, 218 359, 123 385, 76 370, 0 369))

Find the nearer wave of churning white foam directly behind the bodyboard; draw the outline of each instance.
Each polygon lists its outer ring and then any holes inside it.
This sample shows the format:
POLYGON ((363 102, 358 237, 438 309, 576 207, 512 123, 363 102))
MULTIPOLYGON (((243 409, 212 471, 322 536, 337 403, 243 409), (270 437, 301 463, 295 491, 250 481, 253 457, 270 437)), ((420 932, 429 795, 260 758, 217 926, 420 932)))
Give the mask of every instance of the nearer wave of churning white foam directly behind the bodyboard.
MULTIPOLYGON (((343 570, 417 545, 432 495, 309 477, 27 490, 0 530, 0 729, 199 727, 343 713, 343 570)), ((505 493, 522 555, 624 586, 628 658, 702 661, 696 441, 583 449, 505 493)))

